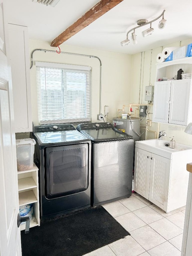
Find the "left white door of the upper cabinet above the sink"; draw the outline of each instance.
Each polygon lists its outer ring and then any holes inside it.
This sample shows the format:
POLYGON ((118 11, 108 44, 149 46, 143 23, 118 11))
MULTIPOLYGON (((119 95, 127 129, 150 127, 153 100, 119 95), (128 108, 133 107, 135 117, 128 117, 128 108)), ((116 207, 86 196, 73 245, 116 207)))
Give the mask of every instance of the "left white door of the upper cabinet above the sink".
POLYGON ((168 123, 171 81, 155 82, 153 121, 168 123))

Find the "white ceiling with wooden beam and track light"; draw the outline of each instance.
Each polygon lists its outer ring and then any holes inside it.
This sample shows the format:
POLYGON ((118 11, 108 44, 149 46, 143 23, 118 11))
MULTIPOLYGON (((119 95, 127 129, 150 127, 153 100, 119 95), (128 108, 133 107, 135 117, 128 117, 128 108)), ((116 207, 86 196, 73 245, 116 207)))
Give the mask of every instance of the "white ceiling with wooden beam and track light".
MULTIPOLYGON (((51 42, 72 25, 99 0, 60 0, 55 7, 32 0, 6 0, 8 23, 27 26, 29 38, 51 42)), ((156 47, 192 38, 192 1, 189 0, 124 0, 89 26, 69 38, 62 45, 134 54, 156 47), (130 42, 122 47, 127 32, 137 26, 137 20, 157 18, 163 10, 167 20, 164 29, 158 29, 161 18, 152 27, 155 31, 145 38, 141 32, 149 25, 136 29, 137 45, 130 42)), ((129 39, 130 35, 129 35, 129 39)))

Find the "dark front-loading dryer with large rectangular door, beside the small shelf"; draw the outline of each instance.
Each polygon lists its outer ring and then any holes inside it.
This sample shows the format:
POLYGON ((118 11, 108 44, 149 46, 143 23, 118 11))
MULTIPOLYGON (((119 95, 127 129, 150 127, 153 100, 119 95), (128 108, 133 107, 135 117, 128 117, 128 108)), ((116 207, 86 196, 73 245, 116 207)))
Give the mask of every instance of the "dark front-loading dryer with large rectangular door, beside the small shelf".
POLYGON ((41 219, 91 206, 91 141, 71 124, 33 127, 41 219))

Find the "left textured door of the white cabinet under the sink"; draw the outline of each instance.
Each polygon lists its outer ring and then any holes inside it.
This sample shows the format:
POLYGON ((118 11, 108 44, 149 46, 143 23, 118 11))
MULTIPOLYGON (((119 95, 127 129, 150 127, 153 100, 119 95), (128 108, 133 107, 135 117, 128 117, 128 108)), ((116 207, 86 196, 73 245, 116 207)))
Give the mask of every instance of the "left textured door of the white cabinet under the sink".
POLYGON ((149 198, 149 176, 151 153, 135 148, 134 191, 146 199, 149 198))

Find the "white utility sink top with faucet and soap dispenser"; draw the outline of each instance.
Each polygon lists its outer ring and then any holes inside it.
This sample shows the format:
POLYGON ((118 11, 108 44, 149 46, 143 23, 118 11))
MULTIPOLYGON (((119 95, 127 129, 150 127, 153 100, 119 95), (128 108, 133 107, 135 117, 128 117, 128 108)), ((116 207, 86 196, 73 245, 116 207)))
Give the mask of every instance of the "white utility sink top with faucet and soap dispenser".
POLYGON ((153 139, 153 140, 140 140, 136 141, 136 147, 142 148, 144 150, 148 150, 148 148, 155 150, 155 154, 172 158, 171 154, 174 152, 180 152, 187 149, 192 149, 192 146, 184 145, 181 143, 175 144, 175 148, 171 149, 170 146, 165 146, 166 143, 170 143, 170 140, 159 140, 159 139, 153 139), (139 145, 138 145, 139 143, 139 145))

